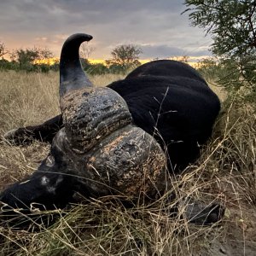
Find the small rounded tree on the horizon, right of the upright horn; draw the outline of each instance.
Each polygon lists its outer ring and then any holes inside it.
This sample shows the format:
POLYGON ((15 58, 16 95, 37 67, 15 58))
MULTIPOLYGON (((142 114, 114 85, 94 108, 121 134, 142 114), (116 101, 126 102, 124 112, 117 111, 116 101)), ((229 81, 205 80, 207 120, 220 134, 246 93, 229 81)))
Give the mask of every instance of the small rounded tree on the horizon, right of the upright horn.
POLYGON ((140 65, 138 61, 139 55, 143 50, 134 44, 121 44, 111 51, 112 59, 108 64, 115 64, 121 67, 137 67, 140 65))

